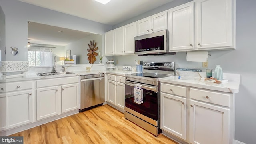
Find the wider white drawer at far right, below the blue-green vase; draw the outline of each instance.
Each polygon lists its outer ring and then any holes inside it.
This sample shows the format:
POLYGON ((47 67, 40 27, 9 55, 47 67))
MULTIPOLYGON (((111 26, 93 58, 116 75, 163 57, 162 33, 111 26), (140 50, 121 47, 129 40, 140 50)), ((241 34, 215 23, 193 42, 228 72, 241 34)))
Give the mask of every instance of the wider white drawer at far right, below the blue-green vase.
POLYGON ((230 106, 230 94, 220 93, 208 90, 190 89, 190 97, 195 100, 218 104, 221 106, 230 106))

